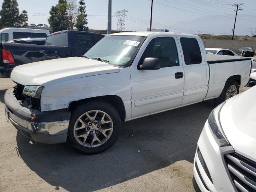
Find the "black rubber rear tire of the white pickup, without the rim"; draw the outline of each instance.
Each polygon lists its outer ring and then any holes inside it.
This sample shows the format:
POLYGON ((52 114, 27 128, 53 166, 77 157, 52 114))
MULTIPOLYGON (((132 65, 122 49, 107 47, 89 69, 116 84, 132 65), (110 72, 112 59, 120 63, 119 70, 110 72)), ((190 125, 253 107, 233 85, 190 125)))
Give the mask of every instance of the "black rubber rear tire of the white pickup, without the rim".
MULTIPOLYGON (((221 104, 222 102, 224 102, 225 100, 227 100, 228 98, 226 98, 226 95, 228 93, 228 90, 231 86, 236 86, 236 92, 234 91, 234 95, 239 93, 239 85, 238 82, 236 80, 230 79, 226 82, 220 96, 216 99, 214 99, 214 104, 217 106, 219 104, 221 104)), ((233 94, 230 95, 230 97, 234 96, 233 94)))

